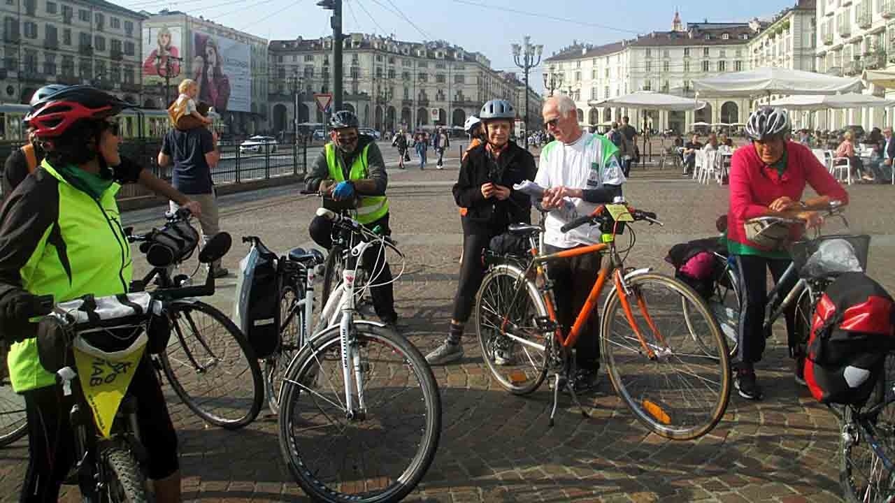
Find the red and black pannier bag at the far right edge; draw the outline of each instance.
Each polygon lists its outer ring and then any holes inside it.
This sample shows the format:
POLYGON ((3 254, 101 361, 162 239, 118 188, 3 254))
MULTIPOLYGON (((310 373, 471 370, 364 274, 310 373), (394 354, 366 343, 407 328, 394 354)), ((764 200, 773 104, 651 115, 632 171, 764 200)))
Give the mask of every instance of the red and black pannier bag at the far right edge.
POLYGON ((838 277, 814 310, 805 382, 824 404, 861 405, 895 345, 895 302, 862 272, 838 277))

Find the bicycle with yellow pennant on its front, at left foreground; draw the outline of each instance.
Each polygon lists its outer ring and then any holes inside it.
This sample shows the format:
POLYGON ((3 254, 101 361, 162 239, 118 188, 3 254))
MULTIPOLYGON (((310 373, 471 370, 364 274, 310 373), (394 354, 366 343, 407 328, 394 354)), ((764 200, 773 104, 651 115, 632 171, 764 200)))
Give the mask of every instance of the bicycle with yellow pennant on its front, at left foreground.
MULTIPOLYGON (((218 234, 202 249, 200 261, 211 263, 229 247, 230 236, 218 234)), ((214 290, 209 272, 203 286, 127 294, 124 301, 122 295, 88 295, 54 306, 52 295, 41 299, 47 308, 34 315, 55 320, 54 339, 64 352, 51 370, 55 370, 63 395, 73 396, 69 417, 74 468, 86 503, 150 500, 143 466, 147 461, 145 440, 152 439, 142 439, 137 427, 138 404, 128 393, 131 377, 138 365, 149 363, 152 320, 178 309, 184 299, 214 294, 214 290), (131 313, 98 319, 102 306, 113 303, 131 313)))

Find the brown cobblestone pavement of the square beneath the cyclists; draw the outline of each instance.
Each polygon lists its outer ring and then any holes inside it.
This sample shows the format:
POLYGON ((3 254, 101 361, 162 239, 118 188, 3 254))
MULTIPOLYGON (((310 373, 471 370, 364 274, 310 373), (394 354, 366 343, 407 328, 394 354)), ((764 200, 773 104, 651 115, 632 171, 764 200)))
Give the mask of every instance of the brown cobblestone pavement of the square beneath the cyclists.
MULTIPOLYGON (((406 253, 396 286, 405 334, 423 353, 447 333, 456 286, 460 226, 450 196, 456 166, 445 171, 391 171, 392 226, 406 253)), ((873 234, 870 272, 895 291, 895 188, 856 185, 848 217, 852 230, 873 234)), ((669 272, 669 246, 713 234, 727 194, 699 186, 677 171, 635 171, 627 198, 655 210, 664 227, 640 227, 630 265, 669 272)), ((223 198, 222 228, 234 234, 225 259, 231 271, 244 255, 238 236, 260 235, 272 249, 307 244, 307 223, 317 200, 293 188, 223 198)), ((158 222, 157 210, 125 219, 158 222), (149 216, 153 216, 149 219, 149 216)), ((833 227, 831 227, 832 230, 833 227)), ((145 264, 138 265, 145 270, 145 264)), ((212 300, 230 312, 234 278, 212 300)), ((781 332, 782 330, 779 330, 781 332)), ((648 434, 614 395, 608 379, 585 404, 583 418, 560 403, 556 426, 547 426, 547 386, 511 396, 490 378, 478 344, 465 339, 459 364, 435 369, 444 407, 434 465, 408 501, 838 501, 838 430, 834 417, 791 379, 784 334, 777 333, 759 364, 763 402, 731 396, 727 415, 709 435, 675 442, 648 434)), ((283 465, 277 423, 267 416, 243 431, 203 424, 170 402, 181 442, 185 496, 197 501, 303 501, 283 465)), ((0 449, 0 499, 15 499, 28 452, 24 441, 0 449)), ((66 501, 76 500, 75 490, 66 501)))

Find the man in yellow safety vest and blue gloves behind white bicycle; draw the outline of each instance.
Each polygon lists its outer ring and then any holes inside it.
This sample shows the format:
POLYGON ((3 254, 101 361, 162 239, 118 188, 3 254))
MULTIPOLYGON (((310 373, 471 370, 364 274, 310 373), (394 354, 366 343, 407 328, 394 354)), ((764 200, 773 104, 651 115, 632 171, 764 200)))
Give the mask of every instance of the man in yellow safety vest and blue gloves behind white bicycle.
MULTIPOLYGON (((376 141, 359 134, 357 115, 347 110, 334 113, 329 127, 331 141, 324 145, 304 179, 307 190, 324 192, 337 201, 354 200, 358 222, 379 234, 391 234, 386 197, 388 175, 376 141)), ((314 217, 309 230, 315 243, 326 249, 332 246, 332 223, 326 218, 314 217)), ((394 325, 397 313, 391 269, 388 263, 373 265, 374 261, 384 261, 385 254, 379 252, 379 247, 371 247, 363 260, 370 270, 381 268, 375 278, 379 286, 371 288, 373 308, 380 320, 394 325)))

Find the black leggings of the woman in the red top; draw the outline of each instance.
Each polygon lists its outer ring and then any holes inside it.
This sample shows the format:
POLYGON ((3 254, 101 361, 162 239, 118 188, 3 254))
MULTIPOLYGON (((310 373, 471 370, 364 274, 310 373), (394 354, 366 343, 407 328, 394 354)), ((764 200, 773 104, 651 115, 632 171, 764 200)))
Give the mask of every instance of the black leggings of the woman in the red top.
MULTIPOLYGON (((754 255, 735 255, 735 257, 740 285, 739 298, 742 302, 739 314, 737 362, 750 364, 760 362, 764 352, 766 338, 764 307, 768 303, 767 271, 771 269, 774 283, 778 283, 792 260, 766 259, 754 255)), ((786 297, 793 286, 796 286, 797 280, 797 276, 793 275, 788 279, 787 284, 781 287, 778 296, 779 302, 786 297)), ((784 312, 789 341, 793 340, 796 334, 796 304, 792 303, 784 312)))

